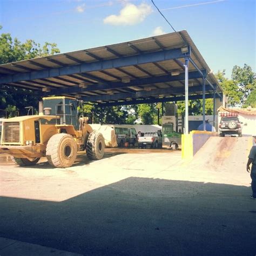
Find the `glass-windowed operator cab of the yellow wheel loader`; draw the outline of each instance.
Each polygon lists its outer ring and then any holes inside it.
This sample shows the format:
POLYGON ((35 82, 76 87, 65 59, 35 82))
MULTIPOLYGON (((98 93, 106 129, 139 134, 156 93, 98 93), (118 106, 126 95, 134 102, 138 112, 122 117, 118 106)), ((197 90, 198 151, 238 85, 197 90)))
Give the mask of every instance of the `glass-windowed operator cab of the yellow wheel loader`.
POLYGON ((43 98, 44 114, 59 116, 60 125, 73 125, 79 129, 77 100, 71 97, 46 97, 43 98))

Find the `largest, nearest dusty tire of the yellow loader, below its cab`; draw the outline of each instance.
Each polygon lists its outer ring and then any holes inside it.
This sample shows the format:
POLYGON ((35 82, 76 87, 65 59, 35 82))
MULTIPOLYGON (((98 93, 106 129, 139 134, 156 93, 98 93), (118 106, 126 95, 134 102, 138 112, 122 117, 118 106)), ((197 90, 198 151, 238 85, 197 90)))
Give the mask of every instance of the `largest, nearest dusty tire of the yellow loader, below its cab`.
POLYGON ((58 168, 70 167, 77 157, 75 139, 66 133, 53 135, 46 146, 46 158, 50 165, 58 168))

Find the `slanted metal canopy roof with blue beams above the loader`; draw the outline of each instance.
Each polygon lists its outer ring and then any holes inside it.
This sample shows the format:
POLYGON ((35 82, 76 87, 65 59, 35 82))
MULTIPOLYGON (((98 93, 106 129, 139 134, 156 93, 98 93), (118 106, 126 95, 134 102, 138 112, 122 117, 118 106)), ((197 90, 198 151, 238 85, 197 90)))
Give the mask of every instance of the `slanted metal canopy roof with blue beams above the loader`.
POLYGON ((0 84, 100 105, 177 101, 184 99, 187 56, 190 99, 202 97, 202 75, 206 98, 213 87, 220 97, 218 81, 186 31, 2 64, 0 84))

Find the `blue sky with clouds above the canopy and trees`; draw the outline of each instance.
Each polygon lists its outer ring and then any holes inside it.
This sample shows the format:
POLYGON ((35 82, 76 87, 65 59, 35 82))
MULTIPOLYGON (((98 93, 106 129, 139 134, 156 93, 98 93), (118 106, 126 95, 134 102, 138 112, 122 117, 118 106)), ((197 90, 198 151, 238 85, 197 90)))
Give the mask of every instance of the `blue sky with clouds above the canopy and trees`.
MULTIPOLYGON (((154 0, 176 30, 187 30, 210 68, 252 66, 255 0, 154 0)), ((173 32, 150 0, 2 0, 2 32, 55 42, 61 52, 173 32)))

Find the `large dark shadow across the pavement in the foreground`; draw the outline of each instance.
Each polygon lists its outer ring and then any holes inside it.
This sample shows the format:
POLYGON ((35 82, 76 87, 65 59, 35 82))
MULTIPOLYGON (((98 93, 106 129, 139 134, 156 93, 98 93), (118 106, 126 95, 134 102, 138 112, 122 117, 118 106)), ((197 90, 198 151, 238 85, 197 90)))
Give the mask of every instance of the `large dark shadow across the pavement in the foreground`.
POLYGON ((0 236, 84 255, 255 255, 250 187, 131 177, 60 203, 0 198, 0 236))

